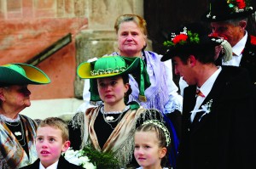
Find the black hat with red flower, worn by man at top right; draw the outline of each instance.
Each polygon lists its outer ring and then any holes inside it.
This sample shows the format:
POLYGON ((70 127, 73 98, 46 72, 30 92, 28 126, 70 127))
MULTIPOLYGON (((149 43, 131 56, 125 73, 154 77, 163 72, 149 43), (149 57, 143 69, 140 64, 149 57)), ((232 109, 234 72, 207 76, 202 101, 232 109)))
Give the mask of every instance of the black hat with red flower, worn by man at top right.
POLYGON ((202 20, 224 21, 247 17, 253 14, 254 8, 250 6, 251 0, 211 0, 209 9, 203 14, 202 20))

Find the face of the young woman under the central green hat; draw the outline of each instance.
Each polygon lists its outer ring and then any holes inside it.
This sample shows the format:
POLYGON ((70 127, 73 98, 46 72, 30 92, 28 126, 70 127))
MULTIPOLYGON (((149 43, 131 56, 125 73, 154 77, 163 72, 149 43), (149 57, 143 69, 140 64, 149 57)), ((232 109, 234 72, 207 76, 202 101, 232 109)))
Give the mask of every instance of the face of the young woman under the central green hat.
POLYGON ((125 93, 129 89, 129 84, 124 84, 121 76, 104 77, 97 79, 97 87, 100 98, 105 104, 116 104, 124 102, 125 93))

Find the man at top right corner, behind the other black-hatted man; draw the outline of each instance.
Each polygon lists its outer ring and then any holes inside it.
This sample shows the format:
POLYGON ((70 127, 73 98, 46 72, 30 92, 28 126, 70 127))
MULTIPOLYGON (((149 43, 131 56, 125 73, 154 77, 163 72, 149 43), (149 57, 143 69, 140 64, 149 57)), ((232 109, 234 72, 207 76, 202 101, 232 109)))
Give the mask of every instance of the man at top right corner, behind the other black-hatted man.
MULTIPOLYGON (((246 31, 247 17, 253 14, 254 10, 249 1, 245 0, 211 0, 202 19, 210 23, 212 34, 226 38, 232 47, 232 59, 224 62, 220 56, 216 64, 246 68, 256 87, 256 37, 246 31)), ((253 22, 255 24, 255 21, 253 22)))

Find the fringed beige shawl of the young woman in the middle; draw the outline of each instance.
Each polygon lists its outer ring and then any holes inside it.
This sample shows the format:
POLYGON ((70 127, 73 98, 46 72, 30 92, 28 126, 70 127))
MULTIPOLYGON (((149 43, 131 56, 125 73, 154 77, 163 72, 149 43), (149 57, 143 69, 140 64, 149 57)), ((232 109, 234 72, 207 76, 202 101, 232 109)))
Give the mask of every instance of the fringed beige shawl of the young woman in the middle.
POLYGON ((81 112, 73 118, 73 127, 80 127, 81 129, 81 149, 84 146, 92 145, 99 151, 112 151, 119 163, 123 165, 122 167, 131 162, 134 149, 133 136, 137 123, 142 124, 145 120, 156 118, 161 118, 160 120, 163 121, 162 115, 158 110, 145 110, 143 107, 137 110, 128 110, 101 149, 94 130, 94 122, 100 109, 101 106, 89 108, 85 111, 85 114, 81 112))

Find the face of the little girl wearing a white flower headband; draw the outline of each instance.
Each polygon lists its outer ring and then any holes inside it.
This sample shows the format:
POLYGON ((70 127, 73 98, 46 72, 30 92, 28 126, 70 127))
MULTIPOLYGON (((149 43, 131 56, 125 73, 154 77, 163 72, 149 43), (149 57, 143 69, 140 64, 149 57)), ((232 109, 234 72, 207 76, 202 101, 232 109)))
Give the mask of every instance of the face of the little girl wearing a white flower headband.
POLYGON ((134 156, 137 163, 146 168, 161 168, 161 159, 166 155, 166 148, 160 148, 155 132, 135 132, 134 156))

